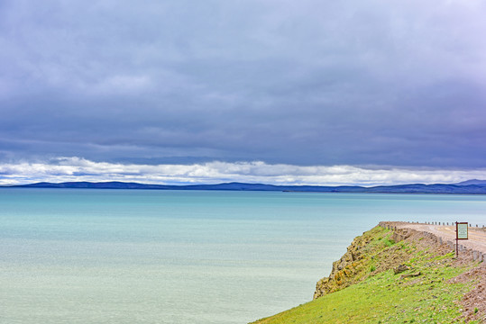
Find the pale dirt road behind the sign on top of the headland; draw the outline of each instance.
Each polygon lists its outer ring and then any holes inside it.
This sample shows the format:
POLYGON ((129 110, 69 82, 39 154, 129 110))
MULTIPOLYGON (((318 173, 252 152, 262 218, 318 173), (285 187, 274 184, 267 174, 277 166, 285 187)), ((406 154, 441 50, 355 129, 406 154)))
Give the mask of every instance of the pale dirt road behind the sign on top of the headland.
MULTIPOLYGON (((416 229, 436 235, 443 240, 455 242, 455 226, 403 223, 396 224, 399 229, 416 229)), ((486 253, 486 230, 469 228, 469 239, 461 239, 459 244, 472 250, 486 253)))

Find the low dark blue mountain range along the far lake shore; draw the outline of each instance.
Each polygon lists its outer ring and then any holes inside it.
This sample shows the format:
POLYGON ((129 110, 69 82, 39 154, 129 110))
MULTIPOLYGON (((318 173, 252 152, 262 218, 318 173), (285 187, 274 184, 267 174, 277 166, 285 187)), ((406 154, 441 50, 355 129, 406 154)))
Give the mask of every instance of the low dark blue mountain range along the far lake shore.
POLYGON ((284 191, 306 193, 467 193, 486 194, 486 180, 468 180, 459 184, 400 184, 373 187, 340 185, 273 185, 273 184, 191 184, 163 185, 125 182, 66 182, 12 185, 22 188, 92 188, 92 189, 150 189, 150 190, 230 190, 230 191, 284 191))

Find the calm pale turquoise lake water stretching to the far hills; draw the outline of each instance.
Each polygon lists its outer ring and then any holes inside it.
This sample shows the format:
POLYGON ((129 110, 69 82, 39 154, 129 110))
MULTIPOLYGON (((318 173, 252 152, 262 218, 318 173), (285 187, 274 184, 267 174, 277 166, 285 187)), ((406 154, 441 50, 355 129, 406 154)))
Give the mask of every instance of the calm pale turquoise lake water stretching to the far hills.
POLYGON ((246 323, 312 299, 381 220, 486 196, 0 189, 0 323, 246 323))

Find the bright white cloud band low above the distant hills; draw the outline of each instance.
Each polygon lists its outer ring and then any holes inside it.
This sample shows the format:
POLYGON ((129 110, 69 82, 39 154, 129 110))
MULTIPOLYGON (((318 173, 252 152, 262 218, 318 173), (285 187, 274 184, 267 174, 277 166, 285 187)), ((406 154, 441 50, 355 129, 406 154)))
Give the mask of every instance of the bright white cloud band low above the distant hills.
POLYGON ((32 182, 124 181, 144 184, 218 184, 247 182, 263 184, 339 185, 412 183, 457 183, 472 178, 486 178, 481 170, 357 167, 292 166, 264 162, 211 162, 192 165, 140 165, 97 163, 79 157, 62 157, 42 163, 0 165, 0 184, 32 182))

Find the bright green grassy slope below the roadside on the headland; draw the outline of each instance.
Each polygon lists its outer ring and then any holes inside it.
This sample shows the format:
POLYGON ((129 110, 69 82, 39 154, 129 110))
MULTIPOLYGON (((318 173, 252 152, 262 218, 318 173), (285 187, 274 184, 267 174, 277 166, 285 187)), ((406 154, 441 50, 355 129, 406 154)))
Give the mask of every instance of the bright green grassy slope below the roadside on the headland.
POLYGON ((390 230, 376 227, 357 238, 365 242, 366 257, 350 265, 355 266, 353 284, 255 323, 464 322, 459 301, 474 283, 450 279, 478 263, 459 262, 454 253, 434 249, 426 238, 412 236, 395 243, 391 236, 390 230), (397 256, 410 269, 395 275, 383 264, 396 264, 397 256))

